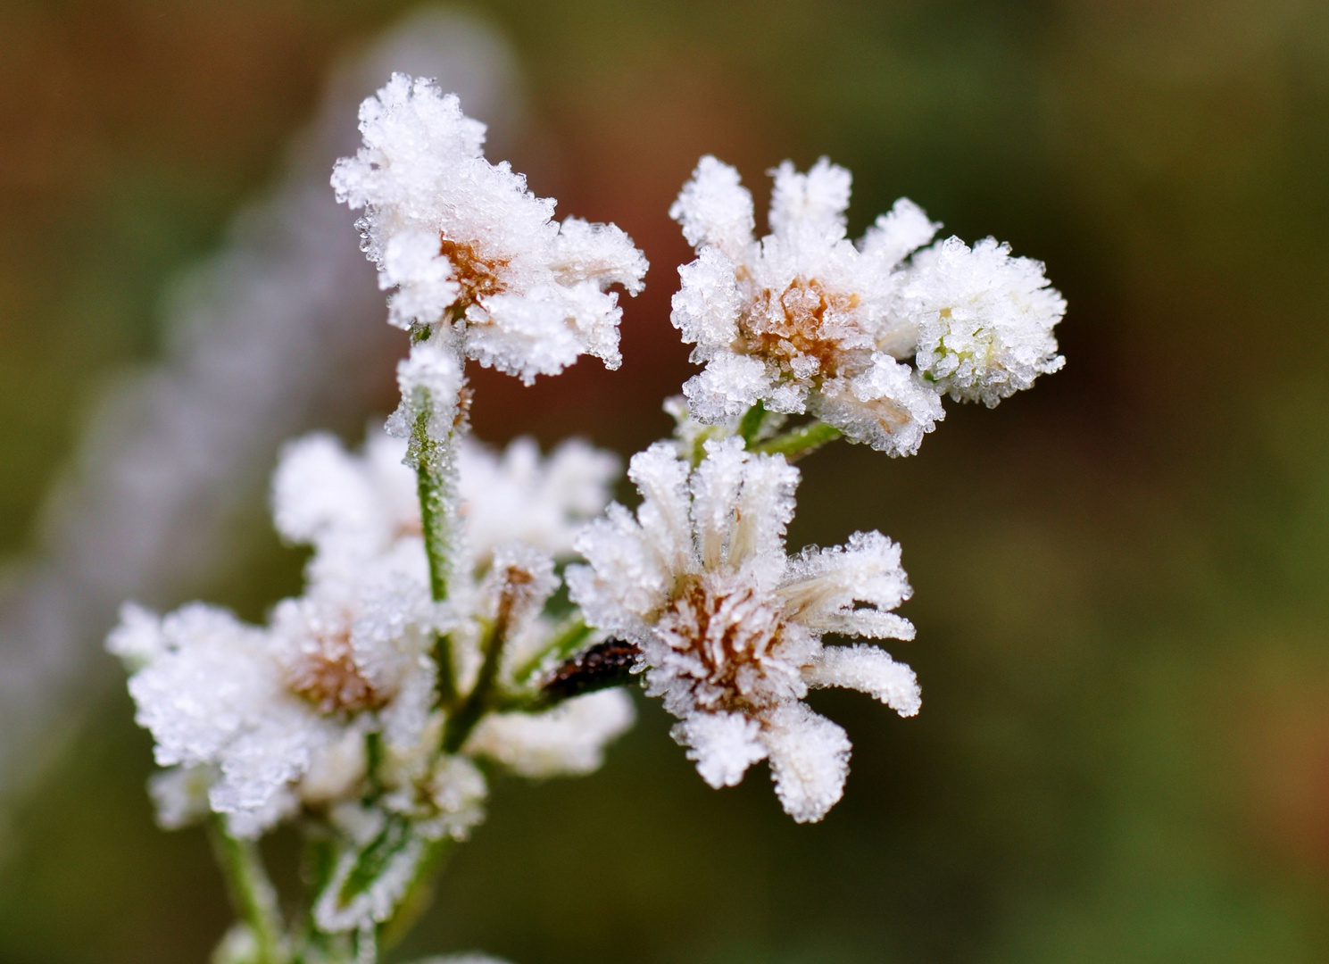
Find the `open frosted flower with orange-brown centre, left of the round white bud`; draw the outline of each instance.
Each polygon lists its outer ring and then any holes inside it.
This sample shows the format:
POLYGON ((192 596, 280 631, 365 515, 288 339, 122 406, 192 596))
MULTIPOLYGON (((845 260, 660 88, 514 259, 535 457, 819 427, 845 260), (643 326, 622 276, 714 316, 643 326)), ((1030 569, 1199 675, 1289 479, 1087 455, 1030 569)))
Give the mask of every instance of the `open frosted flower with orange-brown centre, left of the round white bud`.
POLYGON ((938 225, 901 198, 855 247, 845 238, 849 172, 825 158, 775 174, 771 234, 752 238, 752 195, 738 172, 703 157, 670 209, 698 249, 679 269, 671 320, 706 370, 683 391, 716 424, 762 402, 811 411, 855 441, 917 451, 944 416, 937 391, 900 359, 914 332, 893 312, 900 262, 938 225))

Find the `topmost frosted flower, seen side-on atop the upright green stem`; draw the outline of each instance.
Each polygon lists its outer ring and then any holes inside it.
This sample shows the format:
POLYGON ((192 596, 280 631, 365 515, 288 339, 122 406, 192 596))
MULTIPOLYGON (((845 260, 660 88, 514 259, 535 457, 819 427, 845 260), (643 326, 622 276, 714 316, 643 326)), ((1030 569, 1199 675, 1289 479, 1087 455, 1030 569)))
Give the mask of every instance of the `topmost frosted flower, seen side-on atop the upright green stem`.
POLYGON ((614 225, 554 222, 506 162, 484 157, 485 126, 432 81, 393 74, 360 105, 364 146, 338 162, 339 201, 363 207, 393 324, 452 322, 468 358, 528 384, 587 352, 619 364, 618 297, 642 289, 646 258, 614 225))

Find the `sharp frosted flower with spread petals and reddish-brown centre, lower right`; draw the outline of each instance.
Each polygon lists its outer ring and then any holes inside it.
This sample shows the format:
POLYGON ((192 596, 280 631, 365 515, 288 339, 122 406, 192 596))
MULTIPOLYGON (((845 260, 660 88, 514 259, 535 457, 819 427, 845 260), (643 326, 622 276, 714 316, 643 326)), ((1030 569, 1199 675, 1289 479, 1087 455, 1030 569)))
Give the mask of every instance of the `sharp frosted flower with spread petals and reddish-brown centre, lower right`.
POLYGON ((825 633, 913 637, 890 610, 910 589, 900 549, 877 532, 789 558, 784 531, 799 472, 738 439, 706 443, 696 469, 657 443, 633 457, 635 517, 614 504, 577 548, 589 566, 567 584, 586 621, 635 642, 647 693, 678 717, 674 737, 714 787, 769 758, 796 820, 819 820, 848 773, 844 730, 801 701, 809 687, 870 693, 918 711, 913 671, 870 645, 825 646, 825 633))

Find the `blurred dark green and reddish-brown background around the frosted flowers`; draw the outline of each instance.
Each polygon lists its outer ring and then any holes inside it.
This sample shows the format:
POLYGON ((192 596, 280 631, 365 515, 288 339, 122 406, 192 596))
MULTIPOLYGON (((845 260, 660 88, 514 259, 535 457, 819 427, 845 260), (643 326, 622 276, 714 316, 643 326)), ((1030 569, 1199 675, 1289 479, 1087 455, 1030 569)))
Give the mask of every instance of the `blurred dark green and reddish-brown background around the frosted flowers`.
MULTIPOLYGON (((182 279, 237 246, 262 250, 254 206, 312 164, 311 130, 354 144, 347 105, 373 82, 351 90, 346 65, 409 9, 0 7, 7 605, 51 618, 74 605, 81 590, 35 602, 33 586, 82 585, 73 550, 52 546, 96 524, 62 509, 105 488, 78 476, 86 452, 129 451, 97 435, 108 386, 179 356, 182 279)), ((855 694, 813 697, 855 742, 847 798, 824 823, 789 822, 760 770, 706 788, 643 703, 597 775, 498 783, 489 822, 397 957, 1329 959, 1329 8, 466 11, 478 20, 464 29, 510 49, 500 68, 512 82, 486 108, 496 148, 561 213, 618 222, 653 262, 647 293, 626 306, 622 370, 583 360, 532 390, 482 372, 482 437, 581 433, 626 455, 667 431, 659 400, 688 372, 668 295, 688 253, 666 210, 702 153, 736 164, 759 199, 767 168, 829 154, 855 174, 855 234, 908 194, 949 231, 1045 259, 1070 302, 1069 364, 995 411, 950 406, 917 457, 841 444, 804 463, 795 545, 873 527, 904 544, 918 638, 897 656, 925 697, 910 721, 855 694)), ((282 210, 288 231, 299 207, 282 210)), ((245 278, 214 275, 195 302, 234 298, 245 278)), ((369 294, 351 314, 379 332, 372 273, 355 279, 369 294)), ((195 344, 206 314, 191 322, 195 344)), ((320 362, 291 431, 354 440, 391 406, 403 346, 384 332, 320 362)), ((296 368, 262 376, 295 383, 296 368)), ((225 384, 256 378, 229 372, 225 384)), ((272 419, 250 420, 267 439, 272 419)), ((186 513, 171 531, 173 550, 202 561, 144 577, 136 594, 202 596, 259 618, 298 589, 302 560, 263 520, 274 445, 241 445, 253 471, 223 487, 222 521, 193 527, 186 513), (209 548, 217 533, 226 553, 209 548)), ((199 519, 217 500, 201 501, 199 519)), ((117 558, 114 546, 78 552, 93 569, 117 558)), ((90 612, 58 646, 31 618, 0 638, 0 678, 11 709, 24 707, 4 723, 5 770, 24 775, 4 796, 5 964, 202 961, 229 920, 202 834, 153 826, 150 745, 97 649, 109 618, 90 612)))

